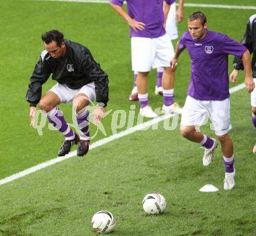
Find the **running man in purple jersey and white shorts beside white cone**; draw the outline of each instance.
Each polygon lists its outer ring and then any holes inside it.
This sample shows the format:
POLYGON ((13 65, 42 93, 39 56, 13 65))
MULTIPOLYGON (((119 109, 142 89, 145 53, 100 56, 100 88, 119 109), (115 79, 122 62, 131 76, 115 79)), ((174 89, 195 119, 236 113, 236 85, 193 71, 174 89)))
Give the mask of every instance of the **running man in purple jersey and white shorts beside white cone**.
POLYGON ((190 141, 198 142, 205 148, 202 163, 211 164, 218 141, 202 134, 198 127, 207 115, 221 142, 223 163, 226 167, 224 189, 234 187, 235 170, 233 142, 229 137, 230 101, 228 55, 241 57, 245 70, 246 88, 253 91, 250 52, 246 47, 227 37, 225 34, 207 30, 207 18, 198 11, 189 16, 189 31, 183 33, 176 45, 175 57, 170 61, 176 67, 177 59, 183 49, 189 51, 191 58, 191 77, 186 102, 183 108, 181 133, 190 141))

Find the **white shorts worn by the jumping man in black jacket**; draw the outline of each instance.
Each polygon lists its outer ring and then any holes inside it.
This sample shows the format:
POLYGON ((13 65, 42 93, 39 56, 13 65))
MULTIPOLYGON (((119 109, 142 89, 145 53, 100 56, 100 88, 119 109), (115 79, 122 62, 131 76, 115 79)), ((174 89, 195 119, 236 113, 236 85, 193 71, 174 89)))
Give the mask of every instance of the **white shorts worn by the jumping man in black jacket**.
POLYGON ((78 90, 72 90, 71 88, 67 87, 67 85, 58 83, 55 84, 49 91, 52 91, 58 95, 59 99, 61 99, 61 103, 72 102, 74 96, 77 94, 85 94, 90 99, 90 102, 93 102, 96 98, 94 82, 86 84, 78 90))

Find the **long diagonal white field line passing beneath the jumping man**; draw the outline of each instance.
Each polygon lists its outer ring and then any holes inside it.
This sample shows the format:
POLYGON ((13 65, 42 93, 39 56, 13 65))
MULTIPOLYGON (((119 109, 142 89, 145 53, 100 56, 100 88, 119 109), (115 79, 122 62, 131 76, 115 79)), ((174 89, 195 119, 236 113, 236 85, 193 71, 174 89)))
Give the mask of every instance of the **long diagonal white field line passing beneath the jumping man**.
MULTIPOLYGON (((233 92, 237 92, 239 90, 242 90, 243 88, 245 88, 245 85, 244 84, 239 84, 236 87, 230 88, 229 92, 230 92, 230 94, 233 94, 233 92)), ((113 135, 111 135, 107 138, 103 138, 102 140, 99 140, 99 141, 94 142, 93 144, 91 144, 90 145, 90 150, 94 149, 94 148, 97 148, 98 146, 102 146, 104 144, 107 144, 108 142, 111 142, 113 140, 118 140, 119 138, 122 138, 122 137, 124 137, 128 134, 132 134, 132 133, 134 133, 138 130, 144 130, 145 128, 148 128, 148 127, 150 127, 154 124, 159 123, 160 121, 169 119, 170 117, 173 117, 173 116, 175 116, 175 115, 171 114, 171 115, 159 116, 159 117, 154 118, 152 120, 146 121, 142 124, 138 124, 137 126, 128 128, 127 130, 121 131, 118 134, 113 134, 113 135)), ((43 162, 41 164, 38 164, 37 166, 33 166, 29 169, 20 171, 17 174, 13 174, 12 176, 3 178, 2 180, 0 180, 0 185, 9 183, 10 181, 16 180, 17 178, 27 176, 28 174, 34 173, 37 170, 44 169, 47 166, 51 166, 51 165, 54 165, 55 163, 62 162, 63 160, 72 158, 73 156, 76 156, 76 151, 70 152, 66 156, 61 156, 59 158, 48 160, 47 162, 43 162)))

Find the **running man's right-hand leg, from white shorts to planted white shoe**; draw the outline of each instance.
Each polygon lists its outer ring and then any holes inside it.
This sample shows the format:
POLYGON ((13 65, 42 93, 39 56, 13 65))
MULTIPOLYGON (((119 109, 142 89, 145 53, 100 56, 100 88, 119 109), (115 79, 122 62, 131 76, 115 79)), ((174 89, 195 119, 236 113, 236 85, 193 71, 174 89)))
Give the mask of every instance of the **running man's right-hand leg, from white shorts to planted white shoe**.
POLYGON ((221 143, 223 163, 225 165, 224 189, 234 187, 234 153, 233 142, 229 136, 230 124, 230 100, 211 101, 208 106, 209 117, 212 121, 215 134, 221 143))

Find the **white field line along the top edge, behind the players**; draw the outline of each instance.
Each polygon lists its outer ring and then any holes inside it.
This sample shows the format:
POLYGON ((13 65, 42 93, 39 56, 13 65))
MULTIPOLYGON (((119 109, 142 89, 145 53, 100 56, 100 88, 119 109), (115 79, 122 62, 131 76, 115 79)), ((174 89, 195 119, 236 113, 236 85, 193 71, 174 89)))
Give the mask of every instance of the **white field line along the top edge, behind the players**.
MULTIPOLYGON (((30 0, 30 1, 109 3, 109 0, 30 0)), ((237 5, 222 5, 222 4, 184 3, 184 6, 196 7, 196 8, 199 7, 199 8, 226 8, 226 9, 256 10, 256 6, 237 6, 237 5)))

